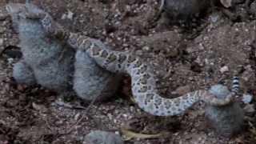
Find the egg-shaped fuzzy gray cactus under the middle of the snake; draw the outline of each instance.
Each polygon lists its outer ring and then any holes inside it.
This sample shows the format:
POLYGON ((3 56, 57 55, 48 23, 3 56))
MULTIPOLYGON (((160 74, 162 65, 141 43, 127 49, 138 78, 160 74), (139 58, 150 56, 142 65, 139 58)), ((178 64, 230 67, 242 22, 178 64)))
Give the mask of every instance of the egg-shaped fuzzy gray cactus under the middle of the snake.
POLYGON ((103 70, 84 52, 77 50, 74 62, 74 91, 78 97, 91 101, 105 100, 118 89, 120 77, 103 70))

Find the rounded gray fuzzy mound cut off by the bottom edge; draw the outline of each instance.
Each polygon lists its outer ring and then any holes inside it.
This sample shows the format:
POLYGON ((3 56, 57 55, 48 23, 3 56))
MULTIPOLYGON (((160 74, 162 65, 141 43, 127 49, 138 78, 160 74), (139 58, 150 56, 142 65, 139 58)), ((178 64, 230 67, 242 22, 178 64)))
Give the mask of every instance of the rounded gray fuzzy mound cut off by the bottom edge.
POLYGON ((83 144, 123 144, 118 134, 95 130, 86 135, 83 144))

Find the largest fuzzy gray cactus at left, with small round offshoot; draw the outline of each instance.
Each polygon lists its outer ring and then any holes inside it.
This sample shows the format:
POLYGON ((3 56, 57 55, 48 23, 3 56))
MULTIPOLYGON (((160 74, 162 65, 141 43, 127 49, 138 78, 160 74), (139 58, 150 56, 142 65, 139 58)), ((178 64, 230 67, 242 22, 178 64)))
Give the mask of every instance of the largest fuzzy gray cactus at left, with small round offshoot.
MULTIPOLYGON (((18 6, 18 5, 15 5, 18 6)), ((18 30, 22 50, 22 62, 14 65, 14 78, 18 82, 34 82, 57 91, 72 88, 74 50, 46 37, 42 26, 33 20, 22 18, 20 7, 8 7, 15 30, 18 30), (24 73, 22 73, 24 72, 24 73), (30 78, 27 74, 30 74, 30 78)))

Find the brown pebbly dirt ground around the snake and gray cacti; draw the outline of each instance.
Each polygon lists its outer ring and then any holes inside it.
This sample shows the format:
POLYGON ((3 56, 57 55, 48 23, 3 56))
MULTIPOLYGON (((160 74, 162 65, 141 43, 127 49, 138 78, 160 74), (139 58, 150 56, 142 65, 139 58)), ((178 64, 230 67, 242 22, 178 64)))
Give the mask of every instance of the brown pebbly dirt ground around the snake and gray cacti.
MULTIPOLYGON (((121 134, 126 143, 255 143, 256 116, 256 20, 231 21, 221 10, 211 10, 189 30, 168 26, 164 18, 153 23, 157 0, 34 0, 66 29, 101 39, 114 50, 130 50, 154 66, 158 86, 166 98, 222 82, 230 86, 234 70, 241 70, 242 90, 254 96, 246 111, 245 126, 233 138, 218 136, 205 122, 204 104, 182 116, 159 118, 146 114, 130 100, 129 78, 118 94, 86 110, 57 106, 58 94, 40 86, 17 85, 12 66, 21 58, 18 34, 4 17, 0 1, 0 144, 82 143, 90 130, 121 134), (192 30, 191 30, 192 29, 192 30), (254 45, 254 46, 250 46, 254 45), (164 137, 126 138, 121 129, 164 137)), ((256 4, 254 5, 256 6, 256 4)), ((243 14, 240 9, 234 13, 243 14)), ((241 9, 242 10, 242 9, 241 9)), ((256 13, 255 13, 256 14, 256 13)), ((72 106, 88 106, 79 99, 72 106)))

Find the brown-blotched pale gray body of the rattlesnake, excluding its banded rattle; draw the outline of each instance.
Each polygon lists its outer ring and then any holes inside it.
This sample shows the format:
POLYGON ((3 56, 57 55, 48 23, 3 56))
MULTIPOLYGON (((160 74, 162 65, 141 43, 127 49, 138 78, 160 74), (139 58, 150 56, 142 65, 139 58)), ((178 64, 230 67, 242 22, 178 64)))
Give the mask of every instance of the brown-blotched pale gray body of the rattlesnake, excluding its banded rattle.
MULTIPOLYGON (((195 102, 204 101, 211 105, 226 105, 232 94, 225 99, 215 98, 208 90, 195 90, 178 98, 162 98, 156 89, 154 73, 150 66, 129 52, 110 50, 101 41, 85 35, 64 30, 53 18, 37 6, 27 4, 26 18, 38 19, 44 29, 54 38, 61 39, 75 50, 84 50, 102 68, 114 73, 129 74, 135 102, 146 112, 158 116, 182 114, 195 102)), ((8 9, 8 6, 7 6, 8 9)))

